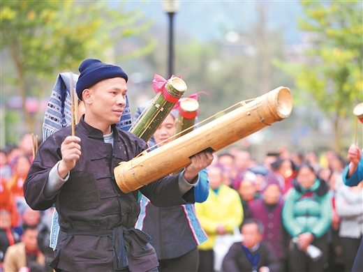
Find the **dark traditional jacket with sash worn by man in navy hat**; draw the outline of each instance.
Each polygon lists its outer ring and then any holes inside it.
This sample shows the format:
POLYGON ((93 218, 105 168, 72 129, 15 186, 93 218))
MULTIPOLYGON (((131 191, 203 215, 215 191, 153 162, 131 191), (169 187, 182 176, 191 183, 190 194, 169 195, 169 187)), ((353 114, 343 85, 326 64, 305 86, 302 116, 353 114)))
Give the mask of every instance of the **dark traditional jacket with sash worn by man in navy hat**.
MULTIPOLYGON (((80 137, 80 160, 71 170, 68 181, 52 197, 44 196, 50 170, 61 160, 61 143, 71 135, 71 127, 59 130, 40 144, 27 180, 24 196, 29 206, 45 210, 55 203, 59 225, 66 233, 59 240, 54 269, 66 271, 114 271, 128 267, 147 271, 158 266, 149 236, 134 228, 140 213, 138 192, 125 194, 114 181, 113 170, 147 149, 135 135, 112 126, 114 146, 103 140, 101 130, 81 119, 75 126, 80 137)), ((194 202, 194 189, 183 196, 179 175, 140 188, 155 206, 177 206, 194 202)))

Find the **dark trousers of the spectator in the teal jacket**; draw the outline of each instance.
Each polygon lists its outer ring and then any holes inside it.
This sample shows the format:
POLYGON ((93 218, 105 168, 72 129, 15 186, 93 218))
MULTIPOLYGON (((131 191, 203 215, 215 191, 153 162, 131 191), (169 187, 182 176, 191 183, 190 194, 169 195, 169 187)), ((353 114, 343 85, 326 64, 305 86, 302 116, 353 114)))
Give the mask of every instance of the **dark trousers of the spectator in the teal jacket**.
POLYGON ((316 262, 306 255, 306 252, 299 250, 295 246, 288 252, 288 271, 289 272, 320 272, 324 271, 324 264, 327 262, 327 234, 324 234, 320 238, 314 239, 313 245, 320 248, 323 251, 323 256, 316 262))

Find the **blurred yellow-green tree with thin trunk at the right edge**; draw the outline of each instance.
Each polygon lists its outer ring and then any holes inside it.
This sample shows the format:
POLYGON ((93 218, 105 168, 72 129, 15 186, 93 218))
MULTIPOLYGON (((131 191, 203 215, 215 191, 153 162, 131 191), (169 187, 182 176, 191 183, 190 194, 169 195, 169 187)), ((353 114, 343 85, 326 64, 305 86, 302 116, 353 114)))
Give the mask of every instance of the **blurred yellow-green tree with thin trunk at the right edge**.
POLYGON ((313 98, 341 137, 341 120, 352 116, 363 99, 362 1, 302 1, 302 6, 306 16, 299 19, 299 29, 310 38, 306 62, 281 67, 295 77, 299 98, 313 98))

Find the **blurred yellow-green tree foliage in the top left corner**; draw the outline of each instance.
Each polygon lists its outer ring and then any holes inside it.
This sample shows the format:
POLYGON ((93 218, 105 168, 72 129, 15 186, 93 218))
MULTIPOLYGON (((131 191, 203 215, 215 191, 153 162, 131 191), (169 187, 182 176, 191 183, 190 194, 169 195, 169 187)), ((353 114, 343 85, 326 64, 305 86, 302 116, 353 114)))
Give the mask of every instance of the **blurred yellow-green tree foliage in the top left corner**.
POLYGON ((8 48, 25 73, 54 79, 89 56, 102 59, 116 40, 150 26, 151 22, 140 24, 138 10, 120 12, 123 5, 110 9, 106 1, 3 2, 1 49, 8 48))

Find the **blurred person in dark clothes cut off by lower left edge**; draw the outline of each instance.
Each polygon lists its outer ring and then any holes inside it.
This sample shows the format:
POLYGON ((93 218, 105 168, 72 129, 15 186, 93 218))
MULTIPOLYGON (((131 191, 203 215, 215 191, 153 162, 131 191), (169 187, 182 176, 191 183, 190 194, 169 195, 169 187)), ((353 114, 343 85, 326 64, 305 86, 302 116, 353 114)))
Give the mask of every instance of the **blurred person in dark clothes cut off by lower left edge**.
POLYGON ((3 257, 8 247, 19 242, 20 236, 11 227, 10 212, 0 209, 0 267, 2 266, 3 257))

